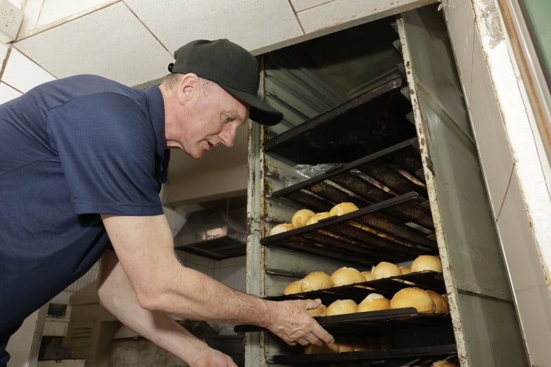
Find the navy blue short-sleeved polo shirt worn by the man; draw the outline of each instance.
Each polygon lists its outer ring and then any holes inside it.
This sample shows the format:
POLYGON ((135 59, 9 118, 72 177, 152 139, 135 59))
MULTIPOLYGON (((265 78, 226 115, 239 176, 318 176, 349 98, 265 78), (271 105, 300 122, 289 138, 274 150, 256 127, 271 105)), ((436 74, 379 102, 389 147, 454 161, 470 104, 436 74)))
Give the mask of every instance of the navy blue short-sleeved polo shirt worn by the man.
POLYGON ((0 105, 0 366, 23 319, 109 246, 99 213, 163 213, 164 125, 157 86, 92 75, 0 105))

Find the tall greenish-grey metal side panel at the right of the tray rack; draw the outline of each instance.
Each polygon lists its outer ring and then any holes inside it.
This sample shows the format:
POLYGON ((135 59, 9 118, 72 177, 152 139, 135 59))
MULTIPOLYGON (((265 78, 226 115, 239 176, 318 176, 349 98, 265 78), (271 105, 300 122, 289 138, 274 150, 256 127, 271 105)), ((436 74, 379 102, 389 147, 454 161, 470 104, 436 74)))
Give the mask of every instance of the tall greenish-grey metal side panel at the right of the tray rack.
POLYGON ((461 366, 526 366, 446 28, 430 8, 399 25, 461 366))

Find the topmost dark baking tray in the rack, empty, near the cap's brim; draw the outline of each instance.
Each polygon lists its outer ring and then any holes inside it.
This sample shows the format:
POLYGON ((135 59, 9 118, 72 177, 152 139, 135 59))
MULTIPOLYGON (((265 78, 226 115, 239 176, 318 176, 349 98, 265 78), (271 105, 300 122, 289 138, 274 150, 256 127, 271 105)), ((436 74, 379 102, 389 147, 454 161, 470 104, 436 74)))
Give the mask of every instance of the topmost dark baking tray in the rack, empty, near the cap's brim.
POLYGON ((400 92, 401 77, 287 130, 264 143, 264 151, 285 160, 316 165, 351 162, 416 136, 406 115, 411 103, 400 92))

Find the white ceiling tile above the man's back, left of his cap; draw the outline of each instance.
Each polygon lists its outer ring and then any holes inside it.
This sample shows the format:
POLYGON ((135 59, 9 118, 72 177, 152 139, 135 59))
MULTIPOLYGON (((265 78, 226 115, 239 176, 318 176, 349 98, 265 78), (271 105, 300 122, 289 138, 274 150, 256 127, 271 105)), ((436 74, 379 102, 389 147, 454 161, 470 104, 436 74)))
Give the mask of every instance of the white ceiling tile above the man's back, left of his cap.
POLYGON ((171 55, 124 3, 116 3, 17 41, 16 47, 58 78, 98 74, 138 85, 167 74, 171 55))

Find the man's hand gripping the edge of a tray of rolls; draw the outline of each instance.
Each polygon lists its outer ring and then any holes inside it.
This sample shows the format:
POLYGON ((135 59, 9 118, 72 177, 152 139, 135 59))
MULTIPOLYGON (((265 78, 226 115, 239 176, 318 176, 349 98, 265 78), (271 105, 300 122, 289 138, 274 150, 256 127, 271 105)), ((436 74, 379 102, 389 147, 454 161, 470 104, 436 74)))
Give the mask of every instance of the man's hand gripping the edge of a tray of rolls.
POLYGON ((331 334, 308 313, 320 304, 321 300, 269 301, 267 308, 271 318, 266 327, 291 346, 333 343, 335 339, 331 334))

